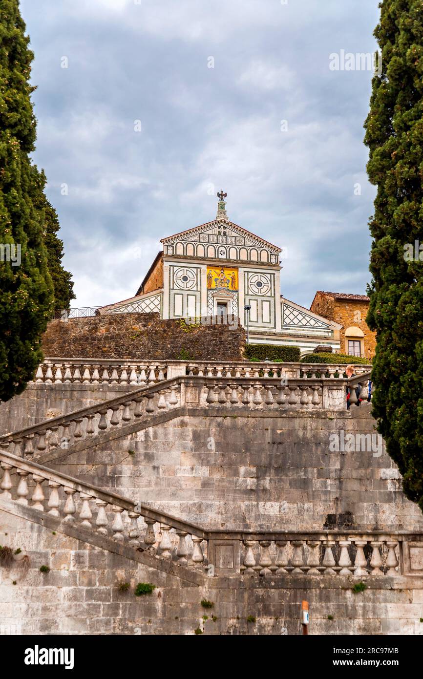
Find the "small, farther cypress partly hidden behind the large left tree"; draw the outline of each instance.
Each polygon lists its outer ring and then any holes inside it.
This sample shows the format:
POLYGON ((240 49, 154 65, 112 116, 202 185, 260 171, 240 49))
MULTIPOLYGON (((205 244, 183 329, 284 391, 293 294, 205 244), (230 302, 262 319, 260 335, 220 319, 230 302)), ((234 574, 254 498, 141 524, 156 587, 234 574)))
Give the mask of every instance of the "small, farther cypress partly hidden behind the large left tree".
POLYGON ((63 241, 56 236, 60 229, 57 213, 52 204, 40 194, 37 209, 44 212, 43 240, 47 248, 47 263, 54 286, 54 309, 69 310, 71 299, 75 299, 72 275, 62 266, 63 241))

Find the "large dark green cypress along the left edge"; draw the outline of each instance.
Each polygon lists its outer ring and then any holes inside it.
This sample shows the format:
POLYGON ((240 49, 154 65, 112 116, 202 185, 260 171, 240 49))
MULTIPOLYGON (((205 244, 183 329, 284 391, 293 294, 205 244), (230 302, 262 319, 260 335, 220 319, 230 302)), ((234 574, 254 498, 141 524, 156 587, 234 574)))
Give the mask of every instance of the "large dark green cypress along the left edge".
POLYGON ((35 205, 43 176, 31 163, 35 117, 28 48, 18 0, 0 5, 0 400, 24 390, 42 359, 53 286, 35 205), (14 255, 14 256, 13 256, 14 255), (11 258, 12 257, 12 258, 11 258), (14 259, 14 261, 12 261, 14 259))

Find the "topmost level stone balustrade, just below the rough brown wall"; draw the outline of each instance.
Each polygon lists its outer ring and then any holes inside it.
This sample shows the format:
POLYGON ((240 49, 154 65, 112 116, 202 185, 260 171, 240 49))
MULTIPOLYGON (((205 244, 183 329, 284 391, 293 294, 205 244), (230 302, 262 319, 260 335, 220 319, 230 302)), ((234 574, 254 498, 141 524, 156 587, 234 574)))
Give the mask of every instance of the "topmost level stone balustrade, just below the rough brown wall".
MULTIPOLYGON (((357 365, 356 373, 367 373, 370 365, 357 365)), ((323 374, 342 379, 345 365, 326 363, 272 363, 271 361, 117 361, 111 359, 45 359, 37 369, 36 384, 155 384, 179 376, 208 378, 304 378, 323 374)))

